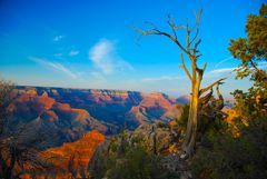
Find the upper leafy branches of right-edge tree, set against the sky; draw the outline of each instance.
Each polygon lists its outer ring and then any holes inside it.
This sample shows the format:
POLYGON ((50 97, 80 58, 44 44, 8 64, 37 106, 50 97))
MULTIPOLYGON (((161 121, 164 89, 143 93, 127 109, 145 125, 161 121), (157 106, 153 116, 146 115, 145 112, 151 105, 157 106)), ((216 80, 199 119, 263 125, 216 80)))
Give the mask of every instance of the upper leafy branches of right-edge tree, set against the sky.
POLYGON ((246 23, 247 38, 231 40, 229 51, 234 58, 241 61, 237 69, 237 78, 251 74, 255 82, 266 82, 266 71, 257 67, 265 63, 267 58, 267 6, 263 4, 259 16, 249 14, 246 23))

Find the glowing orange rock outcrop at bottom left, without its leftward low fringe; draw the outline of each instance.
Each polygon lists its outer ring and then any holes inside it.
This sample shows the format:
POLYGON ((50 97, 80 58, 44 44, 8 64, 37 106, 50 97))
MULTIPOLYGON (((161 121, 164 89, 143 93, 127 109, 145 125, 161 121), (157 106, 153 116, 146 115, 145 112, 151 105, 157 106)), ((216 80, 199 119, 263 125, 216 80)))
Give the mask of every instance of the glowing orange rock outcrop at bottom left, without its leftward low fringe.
POLYGON ((50 171, 51 175, 61 178, 68 178, 68 176, 87 178, 88 163, 97 147, 103 141, 105 136, 92 130, 75 142, 65 142, 60 147, 43 151, 42 155, 46 158, 55 158, 53 165, 57 169, 61 169, 50 171))

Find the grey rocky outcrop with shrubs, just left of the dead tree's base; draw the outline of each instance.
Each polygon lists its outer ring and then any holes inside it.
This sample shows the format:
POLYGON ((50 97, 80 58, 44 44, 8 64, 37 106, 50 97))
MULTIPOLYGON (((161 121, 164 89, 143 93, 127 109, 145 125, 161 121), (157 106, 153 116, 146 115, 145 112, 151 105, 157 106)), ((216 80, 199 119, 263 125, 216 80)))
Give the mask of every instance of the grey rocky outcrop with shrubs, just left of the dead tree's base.
POLYGON ((125 130, 99 145, 89 162, 89 172, 93 178, 109 178, 129 168, 139 170, 151 165, 146 169, 152 170, 155 179, 178 178, 186 167, 178 156, 179 136, 178 130, 162 122, 140 125, 134 131, 125 130), (129 168, 125 167, 128 165, 129 168))

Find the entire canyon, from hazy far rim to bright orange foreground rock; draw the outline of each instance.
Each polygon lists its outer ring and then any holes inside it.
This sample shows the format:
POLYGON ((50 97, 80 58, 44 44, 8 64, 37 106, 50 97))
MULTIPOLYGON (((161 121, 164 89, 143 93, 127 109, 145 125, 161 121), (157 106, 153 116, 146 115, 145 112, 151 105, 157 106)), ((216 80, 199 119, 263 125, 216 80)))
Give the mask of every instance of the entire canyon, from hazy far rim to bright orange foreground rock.
POLYGON ((169 123, 180 116, 181 105, 188 99, 160 92, 21 86, 14 88, 11 98, 8 110, 12 130, 22 131, 24 142, 41 140, 41 153, 56 158, 53 165, 62 169, 52 173, 62 177, 77 175, 78 170, 85 175, 93 151, 106 137, 140 125, 169 123), (71 159, 69 170, 65 163, 71 159))

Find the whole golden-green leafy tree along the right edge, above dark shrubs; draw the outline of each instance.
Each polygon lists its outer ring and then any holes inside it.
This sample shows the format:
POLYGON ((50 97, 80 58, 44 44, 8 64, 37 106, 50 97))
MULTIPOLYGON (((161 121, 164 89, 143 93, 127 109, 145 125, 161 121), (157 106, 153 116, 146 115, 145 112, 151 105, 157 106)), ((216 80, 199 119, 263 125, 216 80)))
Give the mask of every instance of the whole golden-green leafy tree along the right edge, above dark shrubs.
POLYGON ((235 110, 247 119, 267 116, 267 73, 259 66, 267 59, 267 6, 263 4, 259 14, 249 14, 246 23, 247 38, 231 40, 229 51, 241 61, 237 79, 250 76, 254 87, 248 92, 236 90, 235 110))

